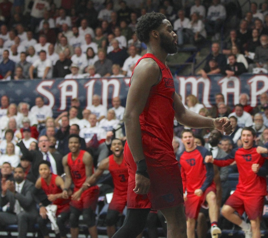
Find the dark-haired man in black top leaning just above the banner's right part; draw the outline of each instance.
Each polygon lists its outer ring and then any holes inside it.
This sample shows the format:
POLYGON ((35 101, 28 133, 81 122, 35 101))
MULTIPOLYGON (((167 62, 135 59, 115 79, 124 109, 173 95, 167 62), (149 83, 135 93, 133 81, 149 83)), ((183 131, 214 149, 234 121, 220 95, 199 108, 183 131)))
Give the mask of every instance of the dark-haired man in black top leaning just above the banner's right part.
POLYGON ((228 60, 229 64, 226 65, 224 71, 222 72, 222 74, 226 74, 228 78, 247 72, 245 65, 236 61, 236 55, 229 55, 228 60))

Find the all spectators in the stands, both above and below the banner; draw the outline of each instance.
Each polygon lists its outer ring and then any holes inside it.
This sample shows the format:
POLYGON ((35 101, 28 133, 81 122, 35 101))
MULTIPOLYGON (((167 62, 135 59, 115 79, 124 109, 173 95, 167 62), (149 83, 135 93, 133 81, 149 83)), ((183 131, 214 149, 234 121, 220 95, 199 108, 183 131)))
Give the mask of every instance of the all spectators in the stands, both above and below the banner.
MULTIPOLYGON (((213 0, 209 7, 195 0, 195 5, 188 8, 178 8, 171 0, 137 1, 135 8, 131 6, 132 1, 117 4, 110 0, 102 4, 91 0, 62 1, 60 8, 56 8, 53 1, 26 2, 27 5, 17 2, 12 5, 8 0, 0 3, 2 80, 131 77, 137 60, 146 52, 146 46, 137 40, 134 31, 140 15, 153 10, 164 13, 173 24, 180 46, 200 44, 208 38, 219 40, 226 19, 226 6, 218 0, 213 0)), ((239 28, 229 30, 222 53, 220 44, 213 42, 205 67, 197 73, 204 78, 219 73, 230 77, 268 70, 267 13, 266 3, 260 10, 251 3, 251 10, 241 19, 239 28)), ((222 135, 219 143, 225 152, 230 147, 241 146, 240 134, 244 126, 252 126, 256 131, 256 145, 267 146, 267 93, 260 95, 260 103, 255 108, 248 105, 247 94, 241 94, 239 104, 233 108, 225 103, 220 93, 215 95, 215 102, 207 109, 194 95, 188 95, 185 106, 203 116, 230 118, 233 133, 222 135)), ((0 108, 1 177, 10 180, 13 169, 20 164, 27 179, 35 182, 39 174, 35 159, 29 157, 31 150, 46 154, 49 151, 51 170, 61 175, 63 168, 59 161, 69 152, 69 134, 79 135, 81 149, 92 155, 97 168, 109 155, 113 137, 125 141, 124 107, 120 98, 113 98, 112 105, 107 110, 101 104, 101 98, 93 95, 92 105, 81 108, 79 100, 73 98, 69 111, 55 118, 42 97, 37 97, 35 106, 30 108, 26 102, 9 103, 8 96, 3 95, 0 108), (6 172, 6 162, 11 167, 9 172, 6 172)), ((174 121, 176 154, 183 150, 180 141, 183 129, 184 126, 174 121)), ((191 130, 196 138, 209 141, 210 128, 191 130)))

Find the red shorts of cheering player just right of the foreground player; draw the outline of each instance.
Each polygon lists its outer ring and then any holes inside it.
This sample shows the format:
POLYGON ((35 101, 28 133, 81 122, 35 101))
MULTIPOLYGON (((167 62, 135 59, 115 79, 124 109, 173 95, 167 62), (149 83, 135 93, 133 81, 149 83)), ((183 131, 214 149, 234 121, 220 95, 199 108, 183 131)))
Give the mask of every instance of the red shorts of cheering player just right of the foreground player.
POLYGON ((210 191, 213 191, 216 194, 216 186, 214 183, 212 183, 200 197, 195 194, 187 194, 187 200, 185 201, 186 219, 197 219, 200 207, 206 201, 206 196, 210 191))

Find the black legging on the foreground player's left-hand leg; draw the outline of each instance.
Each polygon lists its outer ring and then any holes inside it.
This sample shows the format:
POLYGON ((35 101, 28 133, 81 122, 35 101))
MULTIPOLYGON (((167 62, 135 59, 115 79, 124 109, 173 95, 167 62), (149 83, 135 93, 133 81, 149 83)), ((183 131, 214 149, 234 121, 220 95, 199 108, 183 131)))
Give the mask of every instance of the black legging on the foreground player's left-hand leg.
POLYGON ((150 208, 128 208, 123 226, 113 235, 113 238, 136 238, 146 224, 150 208))

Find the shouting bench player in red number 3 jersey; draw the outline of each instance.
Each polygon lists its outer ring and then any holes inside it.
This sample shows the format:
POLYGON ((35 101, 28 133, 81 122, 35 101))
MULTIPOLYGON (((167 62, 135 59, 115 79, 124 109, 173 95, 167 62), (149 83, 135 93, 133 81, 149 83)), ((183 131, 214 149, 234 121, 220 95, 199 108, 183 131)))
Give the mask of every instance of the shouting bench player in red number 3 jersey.
POLYGON ((101 161, 98 169, 96 169, 88 181, 89 184, 95 184, 104 170, 109 170, 113 178, 113 198, 109 204, 106 216, 107 235, 109 238, 116 232, 115 225, 119 214, 122 214, 125 208, 128 191, 128 167, 123 156, 124 146, 120 139, 112 140, 111 151, 113 154, 101 161))

